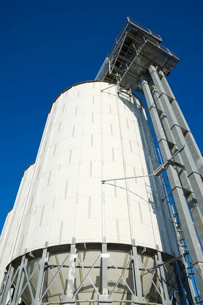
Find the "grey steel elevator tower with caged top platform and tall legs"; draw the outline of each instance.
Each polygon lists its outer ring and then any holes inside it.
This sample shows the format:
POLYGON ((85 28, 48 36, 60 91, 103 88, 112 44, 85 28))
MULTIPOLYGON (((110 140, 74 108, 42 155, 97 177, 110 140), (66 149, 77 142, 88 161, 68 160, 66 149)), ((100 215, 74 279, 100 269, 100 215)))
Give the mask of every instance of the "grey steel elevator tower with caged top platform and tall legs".
POLYGON ((118 94, 123 88, 144 94, 163 160, 152 155, 154 174, 167 172, 203 295, 202 251, 195 232, 203 245, 203 158, 166 80, 179 58, 161 43, 157 33, 127 17, 96 79, 117 83, 118 94))

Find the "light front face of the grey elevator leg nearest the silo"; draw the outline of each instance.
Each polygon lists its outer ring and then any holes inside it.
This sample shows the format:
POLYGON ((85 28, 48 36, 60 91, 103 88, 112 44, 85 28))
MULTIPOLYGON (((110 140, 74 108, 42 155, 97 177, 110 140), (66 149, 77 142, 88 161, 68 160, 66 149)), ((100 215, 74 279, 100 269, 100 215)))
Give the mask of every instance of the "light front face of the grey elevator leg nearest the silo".
MULTIPOLYGON (((161 126, 161 122, 157 113, 156 108, 153 106, 154 101, 149 89, 147 81, 142 79, 142 86, 146 102, 151 115, 152 123, 155 129, 158 144, 161 150, 161 154, 164 162, 166 162, 171 157, 170 149, 168 148, 167 141, 161 126)), ((181 147, 182 148, 182 147, 181 147)), ((189 214, 189 209, 185 201, 182 186, 178 177, 178 173, 172 165, 168 165, 166 168, 168 180, 170 181, 172 193, 176 202, 179 218, 187 242, 187 247, 190 253, 191 261, 194 268, 197 284, 199 286, 200 294, 203 296, 203 256, 200 249, 200 245, 194 230, 192 219, 189 214)))

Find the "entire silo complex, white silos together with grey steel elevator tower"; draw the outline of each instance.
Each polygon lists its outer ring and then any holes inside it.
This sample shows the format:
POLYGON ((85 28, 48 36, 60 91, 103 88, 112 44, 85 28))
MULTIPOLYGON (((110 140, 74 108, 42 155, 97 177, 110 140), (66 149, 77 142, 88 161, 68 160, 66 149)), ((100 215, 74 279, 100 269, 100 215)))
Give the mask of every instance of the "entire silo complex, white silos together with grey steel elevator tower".
POLYGON ((161 42, 127 18, 96 80, 54 100, 1 235, 1 305, 200 302, 203 162, 161 42))

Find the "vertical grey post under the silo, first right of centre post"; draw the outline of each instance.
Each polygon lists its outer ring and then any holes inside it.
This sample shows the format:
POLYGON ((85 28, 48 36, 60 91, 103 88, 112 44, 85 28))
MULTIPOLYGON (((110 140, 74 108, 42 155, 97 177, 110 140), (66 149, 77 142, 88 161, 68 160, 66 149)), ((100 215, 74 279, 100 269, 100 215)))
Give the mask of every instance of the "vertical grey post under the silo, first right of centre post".
POLYGON ((132 246, 132 274, 133 274, 133 282, 134 282, 134 295, 135 301, 143 302, 142 297, 142 288, 140 283, 140 271, 139 271, 139 257, 137 247, 132 246))

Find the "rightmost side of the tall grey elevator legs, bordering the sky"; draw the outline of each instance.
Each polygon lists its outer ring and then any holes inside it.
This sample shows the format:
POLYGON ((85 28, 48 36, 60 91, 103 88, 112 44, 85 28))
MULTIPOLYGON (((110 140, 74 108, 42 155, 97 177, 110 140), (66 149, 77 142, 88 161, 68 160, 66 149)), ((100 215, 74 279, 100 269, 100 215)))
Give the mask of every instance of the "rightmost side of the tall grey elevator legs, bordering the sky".
POLYGON ((161 84, 164 88, 165 94, 170 99, 171 106, 172 106, 172 109, 173 109, 173 111, 176 115, 178 123, 182 128, 184 128, 186 130, 186 133, 184 135, 185 141, 186 141, 187 146, 190 150, 190 153, 191 153, 191 155, 194 159, 194 162, 196 164, 198 172, 203 174, 203 158, 202 158, 201 153, 199 151, 199 148, 196 144, 196 141, 194 140, 194 137, 193 137, 188 125, 187 125, 187 121, 186 121, 186 119, 185 119, 185 117, 184 117, 184 115, 183 115, 183 113, 182 113, 182 111, 181 111, 181 109, 178 105, 178 102, 177 102, 177 100, 176 100, 176 98, 175 98, 175 96, 172 92, 172 89, 171 89, 170 85, 167 82, 167 79, 166 79, 165 75, 163 74, 163 72, 160 69, 158 69, 157 71, 158 71, 158 73, 161 77, 161 84))

